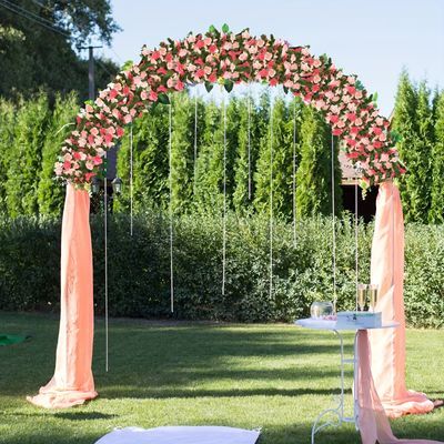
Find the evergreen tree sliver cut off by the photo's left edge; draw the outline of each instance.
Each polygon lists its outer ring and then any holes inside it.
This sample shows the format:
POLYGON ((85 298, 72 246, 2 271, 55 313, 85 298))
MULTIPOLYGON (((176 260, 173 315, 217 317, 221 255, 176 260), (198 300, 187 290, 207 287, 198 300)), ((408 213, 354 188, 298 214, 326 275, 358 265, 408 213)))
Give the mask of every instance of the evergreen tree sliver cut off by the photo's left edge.
POLYGON ((13 155, 14 115, 12 103, 0 98, 0 214, 8 214, 6 185, 9 161, 13 155))

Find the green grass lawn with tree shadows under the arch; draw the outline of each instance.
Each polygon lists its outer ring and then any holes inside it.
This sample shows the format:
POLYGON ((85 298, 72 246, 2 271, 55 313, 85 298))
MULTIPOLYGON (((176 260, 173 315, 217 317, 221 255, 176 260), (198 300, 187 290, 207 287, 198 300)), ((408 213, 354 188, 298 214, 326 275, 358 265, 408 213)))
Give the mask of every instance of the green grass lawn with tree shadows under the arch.
MULTIPOLYGON (((262 444, 307 444, 316 414, 339 393, 339 349, 330 333, 292 325, 111 320, 109 373, 103 322, 97 322, 93 370, 100 397, 46 411, 24 397, 52 375, 58 319, 0 313, 0 332, 32 335, 0 347, 0 443, 92 444, 114 427, 212 424, 262 427, 262 444)), ((444 397, 443 345, 444 331, 408 331, 408 387, 444 397)), ((347 352, 351 347, 347 335, 347 352)), ((347 379, 351 383, 351 371, 347 379)), ((392 425, 398 437, 444 438, 444 408, 392 425)), ((350 424, 316 440, 360 442, 350 424)))

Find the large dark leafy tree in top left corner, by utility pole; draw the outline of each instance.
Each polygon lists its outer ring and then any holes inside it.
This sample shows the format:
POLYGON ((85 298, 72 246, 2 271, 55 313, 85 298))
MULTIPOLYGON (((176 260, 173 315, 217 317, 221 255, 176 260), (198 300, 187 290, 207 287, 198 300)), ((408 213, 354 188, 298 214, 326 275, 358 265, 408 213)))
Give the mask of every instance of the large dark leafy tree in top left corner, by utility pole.
MULTIPOLYGON (((14 100, 38 90, 88 95, 88 61, 73 46, 97 37, 109 44, 119 30, 109 0, 16 0, 0 9, 0 94, 14 100)), ((97 59, 97 84, 104 87, 118 67, 97 59), (110 75, 111 73, 111 75, 110 75)))

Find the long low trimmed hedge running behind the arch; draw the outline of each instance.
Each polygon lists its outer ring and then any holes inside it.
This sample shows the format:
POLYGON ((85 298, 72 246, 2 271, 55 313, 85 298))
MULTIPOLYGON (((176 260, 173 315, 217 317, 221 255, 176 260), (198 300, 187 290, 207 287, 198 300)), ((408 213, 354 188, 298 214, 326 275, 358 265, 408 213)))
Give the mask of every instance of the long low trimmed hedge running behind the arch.
MULTIPOLYGON (((91 221, 95 313, 103 314, 103 225, 91 221)), ((360 281, 367 282, 373 226, 360 225, 360 281)), ((269 220, 228 221, 226 286, 222 282, 222 221, 208 214, 174 221, 175 312, 170 307, 169 220, 140 213, 133 236, 125 214, 109 220, 109 307, 112 316, 291 321, 307 315, 313 300, 332 299, 332 220, 275 221, 273 293, 269 293, 269 220)), ((0 220, 0 309, 59 307, 60 221, 0 220)), ((406 228, 405 309, 414 326, 444 324, 444 226, 406 228)), ((353 219, 337 222, 339 307, 354 305, 353 219)))

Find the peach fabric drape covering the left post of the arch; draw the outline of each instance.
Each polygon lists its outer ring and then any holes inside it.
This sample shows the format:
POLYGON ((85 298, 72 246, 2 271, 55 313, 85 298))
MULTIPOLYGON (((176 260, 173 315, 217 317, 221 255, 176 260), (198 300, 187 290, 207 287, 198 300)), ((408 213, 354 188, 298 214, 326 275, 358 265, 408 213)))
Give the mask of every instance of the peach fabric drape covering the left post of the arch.
POLYGON ((31 403, 47 408, 83 404, 95 397, 91 371, 93 343, 90 198, 67 186, 61 244, 60 329, 56 371, 31 403))

